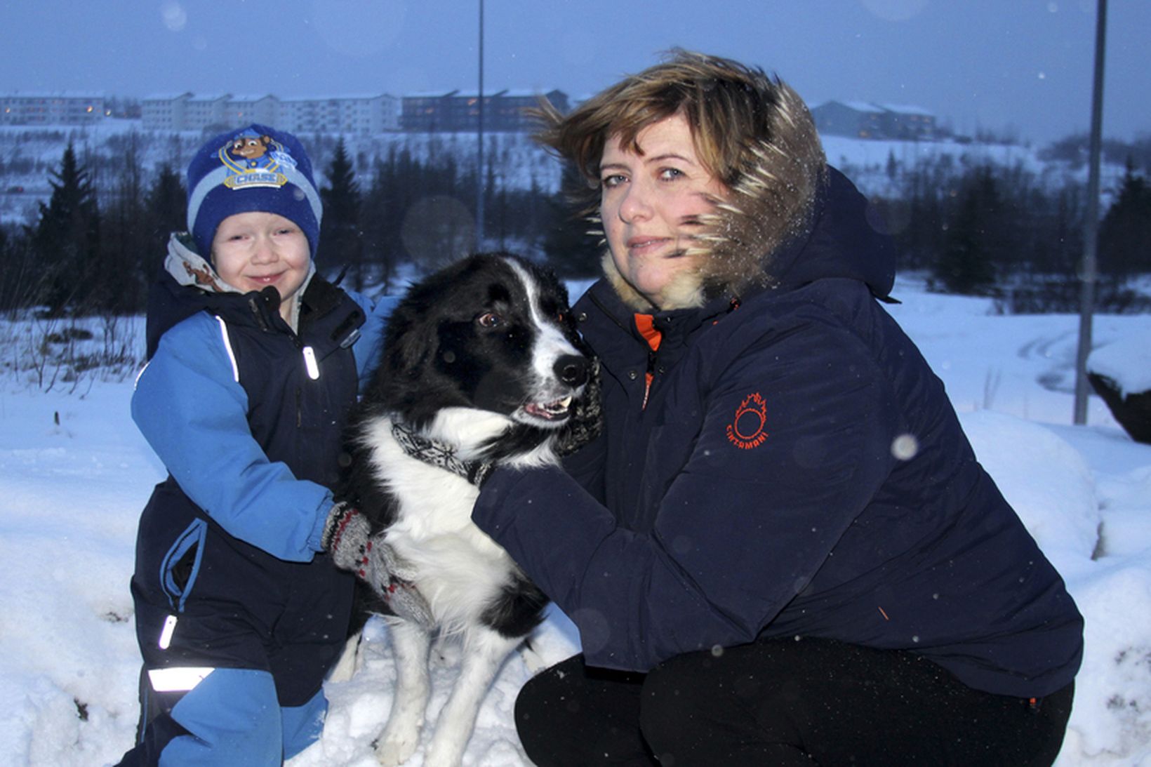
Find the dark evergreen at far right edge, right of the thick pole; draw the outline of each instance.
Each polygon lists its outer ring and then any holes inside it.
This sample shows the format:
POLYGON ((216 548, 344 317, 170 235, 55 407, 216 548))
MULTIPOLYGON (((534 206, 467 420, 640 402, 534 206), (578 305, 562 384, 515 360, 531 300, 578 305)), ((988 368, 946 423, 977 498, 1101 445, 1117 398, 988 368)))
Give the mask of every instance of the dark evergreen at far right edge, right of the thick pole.
POLYGON ((1151 273, 1151 187, 1130 161, 1119 197, 1099 223, 1099 273, 1115 284, 1151 273))

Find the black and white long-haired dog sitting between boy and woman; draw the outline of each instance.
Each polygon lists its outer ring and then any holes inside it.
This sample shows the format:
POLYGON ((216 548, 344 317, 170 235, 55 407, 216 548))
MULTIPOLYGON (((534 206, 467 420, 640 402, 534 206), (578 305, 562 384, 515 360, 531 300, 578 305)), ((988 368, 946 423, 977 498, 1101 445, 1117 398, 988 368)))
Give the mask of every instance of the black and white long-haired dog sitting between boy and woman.
POLYGON ((435 632, 463 640, 424 760, 441 767, 460 762, 496 671, 541 621, 547 598, 472 524, 473 483, 494 465, 555 463, 557 441, 587 423, 572 418, 590 363, 569 314, 552 275, 489 253, 413 284, 388 320, 380 367, 351 419, 346 487, 403 563, 392 588, 419 601, 391 609, 373 594, 368 605, 389 615, 398 666, 376 743, 383 765, 419 745, 435 632))

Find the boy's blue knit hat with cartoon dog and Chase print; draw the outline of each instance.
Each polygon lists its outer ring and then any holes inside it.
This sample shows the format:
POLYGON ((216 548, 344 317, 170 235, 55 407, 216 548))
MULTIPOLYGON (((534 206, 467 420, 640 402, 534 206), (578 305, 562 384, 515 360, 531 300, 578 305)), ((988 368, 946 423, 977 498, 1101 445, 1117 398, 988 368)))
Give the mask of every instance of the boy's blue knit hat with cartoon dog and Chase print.
POLYGON ((260 211, 292 221, 312 256, 323 207, 312 162, 291 134, 251 124, 220 134, 188 166, 188 230, 200 256, 211 258, 216 227, 229 215, 260 211))

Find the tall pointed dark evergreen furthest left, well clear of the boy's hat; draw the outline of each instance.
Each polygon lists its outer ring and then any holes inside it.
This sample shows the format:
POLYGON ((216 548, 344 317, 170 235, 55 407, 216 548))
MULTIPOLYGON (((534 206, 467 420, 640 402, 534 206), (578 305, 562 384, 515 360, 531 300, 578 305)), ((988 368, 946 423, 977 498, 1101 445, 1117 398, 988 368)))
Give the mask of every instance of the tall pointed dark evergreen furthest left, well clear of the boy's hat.
POLYGON ((52 196, 47 205, 40 203, 30 238, 44 273, 39 302, 60 316, 89 309, 90 286, 102 268, 100 214, 87 169, 77 161, 71 142, 52 176, 52 196))

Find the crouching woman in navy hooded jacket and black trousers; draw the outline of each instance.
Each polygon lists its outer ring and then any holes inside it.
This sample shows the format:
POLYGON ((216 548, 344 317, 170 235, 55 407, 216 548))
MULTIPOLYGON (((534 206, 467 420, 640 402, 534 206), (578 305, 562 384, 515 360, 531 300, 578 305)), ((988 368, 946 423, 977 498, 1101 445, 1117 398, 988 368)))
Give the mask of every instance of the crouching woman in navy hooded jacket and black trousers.
POLYGON ((894 256, 785 84, 679 52, 543 141, 593 187, 603 433, 475 523, 582 655, 540 765, 1050 764, 1082 618, 884 312, 894 256))

